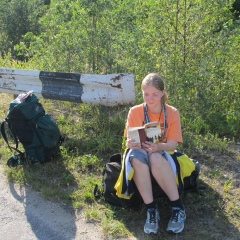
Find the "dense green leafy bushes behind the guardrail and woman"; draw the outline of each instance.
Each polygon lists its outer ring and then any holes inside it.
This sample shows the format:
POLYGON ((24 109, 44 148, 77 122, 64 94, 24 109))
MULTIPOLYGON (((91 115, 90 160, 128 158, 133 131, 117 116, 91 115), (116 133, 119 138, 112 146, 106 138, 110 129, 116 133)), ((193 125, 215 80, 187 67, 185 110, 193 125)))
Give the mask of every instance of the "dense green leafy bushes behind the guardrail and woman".
POLYGON ((142 101, 142 78, 161 72, 184 127, 236 138, 240 20, 233 3, 4 1, 1 51, 7 54, 10 48, 10 55, 41 70, 132 72, 137 102, 142 101))

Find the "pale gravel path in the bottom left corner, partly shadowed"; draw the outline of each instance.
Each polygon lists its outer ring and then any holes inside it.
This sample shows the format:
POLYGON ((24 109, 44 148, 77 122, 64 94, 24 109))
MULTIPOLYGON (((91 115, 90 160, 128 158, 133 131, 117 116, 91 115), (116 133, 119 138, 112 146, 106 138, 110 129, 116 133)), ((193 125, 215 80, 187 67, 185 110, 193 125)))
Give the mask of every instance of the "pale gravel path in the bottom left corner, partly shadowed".
POLYGON ((81 213, 44 200, 28 186, 9 184, 0 167, 0 239, 99 240, 100 227, 81 213))

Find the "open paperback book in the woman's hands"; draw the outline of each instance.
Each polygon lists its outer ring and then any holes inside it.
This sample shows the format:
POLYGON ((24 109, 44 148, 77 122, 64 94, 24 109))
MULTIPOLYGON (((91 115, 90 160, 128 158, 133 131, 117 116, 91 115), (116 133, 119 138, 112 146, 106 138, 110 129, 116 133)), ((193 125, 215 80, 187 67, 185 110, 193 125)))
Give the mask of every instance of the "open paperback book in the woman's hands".
POLYGON ((131 127, 128 129, 128 136, 137 143, 145 141, 159 143, 161 142, 161 128, 158 122, 146 123, 142 127, 131 127))

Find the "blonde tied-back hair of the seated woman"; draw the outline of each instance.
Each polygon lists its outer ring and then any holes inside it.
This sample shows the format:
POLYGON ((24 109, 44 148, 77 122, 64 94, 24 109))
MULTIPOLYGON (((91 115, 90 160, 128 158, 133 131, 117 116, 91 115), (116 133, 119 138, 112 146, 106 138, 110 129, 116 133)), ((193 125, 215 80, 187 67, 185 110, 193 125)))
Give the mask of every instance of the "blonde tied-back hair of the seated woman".
MULTIPOLYGON (((143 79, 142 85, 141 85, 142 91, 144 91, 144 89, 148 86, 153 86, 160 91, 165 90, 163 78, 157 73, 149 73, 143 79)), ((164 95, 161 98, 161 102, 165 104, 167 102, 167 100, 168 100, 168 96, 167 96, 167 93, 165 91, 164 95)))

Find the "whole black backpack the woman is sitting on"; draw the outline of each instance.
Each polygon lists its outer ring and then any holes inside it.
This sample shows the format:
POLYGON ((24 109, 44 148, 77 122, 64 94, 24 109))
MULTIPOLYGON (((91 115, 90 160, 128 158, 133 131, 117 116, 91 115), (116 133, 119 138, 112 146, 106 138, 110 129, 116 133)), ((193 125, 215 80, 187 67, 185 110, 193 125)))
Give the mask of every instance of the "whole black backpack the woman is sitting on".
MULTIPOLYGON (((198 161, 187 157, 186 160, 192 161, 194 163, 195 170, 191 173, 190 176, 185 177, 182 181, 180 177, 181 170, 180 170, 178 157, 181 157, 183 155, 184 155, 183 153, 177 152, 177 151, 171 155, 177 168, 177 176, 179 181, 179 185, 178 185, 179 194, 181 195, 183 193, 188 193, 188 192, 198 193, 200 164, 198 161)), ((95 186, 94 196, 96 199, 103 197, 105 201, 115 206, 133 208, 135 210, 138 210, 143 205, 143 200, 135 185, 133 186, 134 194, 130 199, 119 198, 116 195, 116 190, 114 186, 121 172, 121 168, 122 168, 121 162, 122 162, 122 155, 120 153, 114 154, 110 157, 109 162, 105 164, 103 168, 102 186, 101 188, 98 185, 95 186)), ((153 178, 153 176, 151 176, 151 179, 152 179, 153 197, 155 199, 166 197, 165 192, 161 189, 161 187, 158 185, 158 183, 153 178)))

